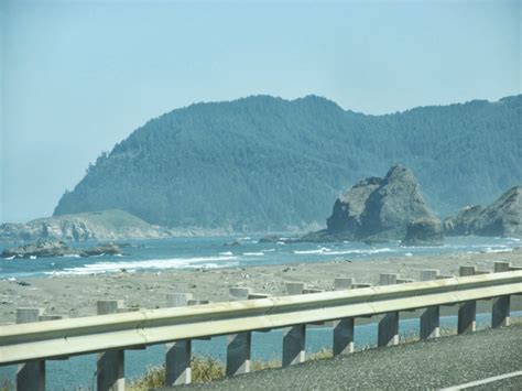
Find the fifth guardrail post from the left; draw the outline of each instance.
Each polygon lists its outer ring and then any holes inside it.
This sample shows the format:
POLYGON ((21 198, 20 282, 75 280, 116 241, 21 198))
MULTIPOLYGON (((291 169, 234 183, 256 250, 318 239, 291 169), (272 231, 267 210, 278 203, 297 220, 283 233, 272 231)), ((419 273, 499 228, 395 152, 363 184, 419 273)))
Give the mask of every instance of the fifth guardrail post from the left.
MULTIPOLYGON (((303 294, 304 283, 287 282, 290 295, 303 294)), ((306 325, 292 326, 283 330, 283 367, 305 361, 306 325)))

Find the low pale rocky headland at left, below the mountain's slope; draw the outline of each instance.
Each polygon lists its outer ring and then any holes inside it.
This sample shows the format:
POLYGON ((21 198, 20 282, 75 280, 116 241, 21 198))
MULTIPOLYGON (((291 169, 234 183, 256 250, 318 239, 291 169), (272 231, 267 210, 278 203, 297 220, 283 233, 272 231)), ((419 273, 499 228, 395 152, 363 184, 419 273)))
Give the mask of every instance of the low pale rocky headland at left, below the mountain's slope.
POLYGON ((170 232, 122 210, 90 211, 0 225, 0 241, 154 239, 170 232))

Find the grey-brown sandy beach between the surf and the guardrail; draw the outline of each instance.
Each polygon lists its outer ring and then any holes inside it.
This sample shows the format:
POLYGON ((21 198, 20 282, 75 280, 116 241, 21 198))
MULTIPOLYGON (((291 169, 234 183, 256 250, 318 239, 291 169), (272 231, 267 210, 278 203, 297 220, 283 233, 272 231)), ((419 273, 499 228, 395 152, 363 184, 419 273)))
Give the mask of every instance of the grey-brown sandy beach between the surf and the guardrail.
MULTIPOLYGON (((399 273, 418 280, 422 269, 438 269, 457 275, 459 265, 493 270, 493 262, 509 261, 522 267, 522 248, 510 252, 454 253, 434 257, 404 257, 379 260, 263 265, 230 269, 163 270, 159 272, 119 272, 94 275, 63 275, 45 279, 0 281, 0 323, 13 323, 17 307, 42 307, 45 314, 68 317, 95 315, 98 300, 124 300, 129 307, 166 306, 166 294, 192 293, 195 298, 228 301, 232 286, 249 286, 254 292, 284 294, 285 282, 301 281, 308 287, 331 290, 337 276, 378 284, 380 273, 399 273)), ((479 302, 479 312, 489 312, 490 302, 479 302)), ((522 308, 522 296, 512 301, 512 309, 522 308)), ((450 311, 450 308, 448 309, 450 311)))

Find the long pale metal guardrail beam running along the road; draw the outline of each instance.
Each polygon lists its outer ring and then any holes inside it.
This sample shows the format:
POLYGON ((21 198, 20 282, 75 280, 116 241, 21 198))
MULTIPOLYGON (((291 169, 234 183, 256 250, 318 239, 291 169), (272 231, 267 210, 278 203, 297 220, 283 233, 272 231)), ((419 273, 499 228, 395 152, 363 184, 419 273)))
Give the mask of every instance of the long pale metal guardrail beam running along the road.
POLYGON ((142 309, 0 328, 0 365, 371 316, 522 293, 522 271, 142 309))

